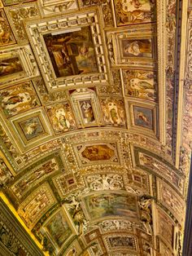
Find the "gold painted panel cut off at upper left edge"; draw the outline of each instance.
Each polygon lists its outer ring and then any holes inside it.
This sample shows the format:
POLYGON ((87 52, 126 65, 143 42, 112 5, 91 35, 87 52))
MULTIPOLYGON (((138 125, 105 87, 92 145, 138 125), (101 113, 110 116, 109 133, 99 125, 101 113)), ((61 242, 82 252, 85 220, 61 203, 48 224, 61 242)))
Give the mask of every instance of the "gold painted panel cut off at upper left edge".
POLYGON ((5 12, 0 10, 0 46, 7 46, 15 43, 13 33, 8 24, 5 12))

